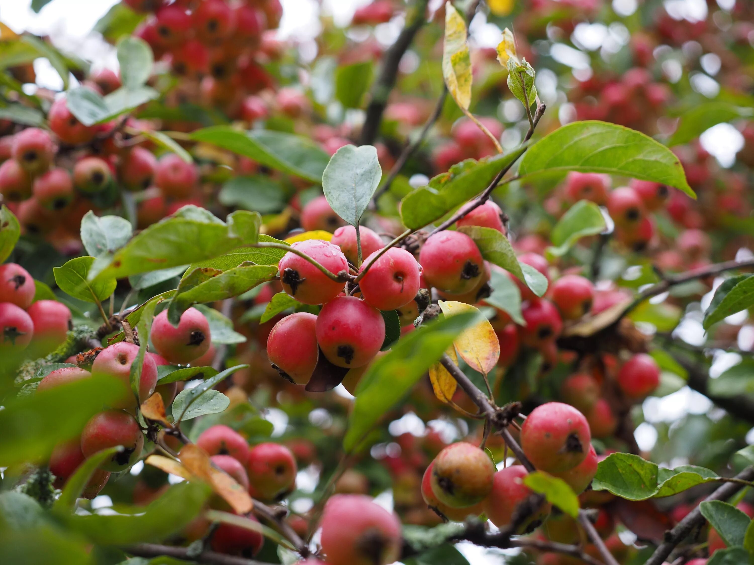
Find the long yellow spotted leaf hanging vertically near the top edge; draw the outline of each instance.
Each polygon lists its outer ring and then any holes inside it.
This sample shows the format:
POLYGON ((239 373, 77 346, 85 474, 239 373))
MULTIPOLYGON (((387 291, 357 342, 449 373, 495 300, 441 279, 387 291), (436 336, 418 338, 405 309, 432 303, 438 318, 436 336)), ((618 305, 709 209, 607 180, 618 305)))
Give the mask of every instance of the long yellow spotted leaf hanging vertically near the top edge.
POLYGON ((466 22, 450 2, 445 5, 443 78, 448 92, 464 110, 471 103, 471 58, 466 43, 466 22))

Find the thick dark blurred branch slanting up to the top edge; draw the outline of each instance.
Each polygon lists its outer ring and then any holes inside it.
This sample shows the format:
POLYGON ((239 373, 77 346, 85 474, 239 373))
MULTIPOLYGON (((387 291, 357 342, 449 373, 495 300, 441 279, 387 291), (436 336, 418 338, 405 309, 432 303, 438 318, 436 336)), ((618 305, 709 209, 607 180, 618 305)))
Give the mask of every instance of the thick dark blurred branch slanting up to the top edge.
POLYGON ((372 145, 377 138, 379 126, 382 123, 382 112, 385 111, 391 90, 395 86, 400 60, 403 59, 403 54, 408 50, 421 26, 425 24, 428 2, 429 0, 418 0, 416 2, 416 5, 412 8, 412 11, 414 11, 413 19, 406 22, 406 26, 398 35, 395 43, 388 47, 388 50, 385 50, 385 54, 382 56, 382 70, 372 86, 371 100, 366 107, 366 119, 361 130, 361 145, 372 145))

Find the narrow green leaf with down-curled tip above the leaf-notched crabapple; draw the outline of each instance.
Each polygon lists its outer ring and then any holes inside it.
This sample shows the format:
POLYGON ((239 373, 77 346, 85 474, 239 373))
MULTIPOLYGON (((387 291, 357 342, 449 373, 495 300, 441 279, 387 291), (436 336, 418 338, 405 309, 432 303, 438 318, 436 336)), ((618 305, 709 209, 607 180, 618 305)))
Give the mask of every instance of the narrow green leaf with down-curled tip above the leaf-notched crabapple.
POLYGON ((167 317, 171 323, 178 325, 182 313, 194 304, 214 302, 242 295, 249 289, 267 282, 277 273, 274 265, 255 265, 242 263, 233 269, 228 269, 201 282, 185 292, 179 291, 170 301, 167 317))

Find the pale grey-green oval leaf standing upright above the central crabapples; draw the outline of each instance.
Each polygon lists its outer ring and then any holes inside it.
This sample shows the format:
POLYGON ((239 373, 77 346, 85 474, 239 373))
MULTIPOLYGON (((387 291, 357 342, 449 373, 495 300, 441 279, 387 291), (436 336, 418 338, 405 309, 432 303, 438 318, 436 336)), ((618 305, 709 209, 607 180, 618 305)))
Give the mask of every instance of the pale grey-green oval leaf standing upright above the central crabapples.
POLYGON ((382 168, 372 145, 345 145, 327 163, 322 189, 335 213, 356 226, 381 178, 382 168))

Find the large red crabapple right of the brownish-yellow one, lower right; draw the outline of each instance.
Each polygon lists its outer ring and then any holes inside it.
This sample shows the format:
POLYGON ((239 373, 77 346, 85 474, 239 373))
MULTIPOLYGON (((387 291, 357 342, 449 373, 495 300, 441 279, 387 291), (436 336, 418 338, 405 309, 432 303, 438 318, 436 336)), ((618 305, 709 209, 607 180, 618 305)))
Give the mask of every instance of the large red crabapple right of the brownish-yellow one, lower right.
POLYGON ((564 472, 581 463, 591 433, 584 414, 562 402, 538 406, 521 426, 521 447, 536 469, 564 472))

